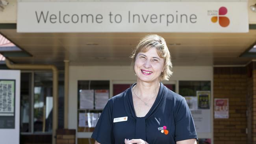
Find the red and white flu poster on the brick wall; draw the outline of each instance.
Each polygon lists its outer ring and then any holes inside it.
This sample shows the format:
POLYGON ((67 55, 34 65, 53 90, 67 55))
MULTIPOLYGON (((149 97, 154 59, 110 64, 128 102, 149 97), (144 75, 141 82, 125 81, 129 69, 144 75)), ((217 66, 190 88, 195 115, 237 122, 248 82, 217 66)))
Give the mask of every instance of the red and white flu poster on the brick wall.
POLYGON ((228 118, 228 98, 214 99, 214 118, 228 118))

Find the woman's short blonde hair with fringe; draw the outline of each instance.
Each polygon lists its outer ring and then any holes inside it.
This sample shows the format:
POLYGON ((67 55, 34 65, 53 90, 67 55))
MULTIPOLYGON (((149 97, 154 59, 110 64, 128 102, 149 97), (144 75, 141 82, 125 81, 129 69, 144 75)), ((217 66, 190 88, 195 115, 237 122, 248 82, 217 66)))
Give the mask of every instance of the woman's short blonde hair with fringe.
POLYGON ((146 35, 139 44, 136 46, 132 55, 132 66, 134 68, 134 63, 139 52, 147 52, 150 48, 156 48, 158 56, 164 59, 164 69, 159 76, 160 81, 168 81, 170 76, 173 74, 171 71, 173 64, 171 63, 171 54, 167 48, 165 39, 159 35, 146 35))

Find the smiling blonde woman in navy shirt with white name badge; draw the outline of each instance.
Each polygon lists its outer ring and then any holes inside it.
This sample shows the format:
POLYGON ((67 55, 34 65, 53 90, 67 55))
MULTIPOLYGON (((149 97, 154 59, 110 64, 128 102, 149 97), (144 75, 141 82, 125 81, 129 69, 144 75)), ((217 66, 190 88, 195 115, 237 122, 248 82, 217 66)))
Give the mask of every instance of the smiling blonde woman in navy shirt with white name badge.
POLYGON ((147 35, 131 57, 137 83, 109 99, 92 135, 95 144, 196 144, 186 100, 160 82, 172 75, 165 40, 147 35))

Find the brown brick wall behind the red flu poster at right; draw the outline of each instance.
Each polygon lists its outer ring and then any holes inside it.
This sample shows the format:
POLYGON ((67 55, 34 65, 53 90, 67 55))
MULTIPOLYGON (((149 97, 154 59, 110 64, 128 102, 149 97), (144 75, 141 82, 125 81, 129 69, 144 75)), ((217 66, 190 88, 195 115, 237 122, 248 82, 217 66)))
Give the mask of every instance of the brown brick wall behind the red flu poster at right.
POLYGON ((214 144, 246 144, 246 68, 215 67, 213 87, 214 98, 229 99, 229 118, 213 120, 214 144))

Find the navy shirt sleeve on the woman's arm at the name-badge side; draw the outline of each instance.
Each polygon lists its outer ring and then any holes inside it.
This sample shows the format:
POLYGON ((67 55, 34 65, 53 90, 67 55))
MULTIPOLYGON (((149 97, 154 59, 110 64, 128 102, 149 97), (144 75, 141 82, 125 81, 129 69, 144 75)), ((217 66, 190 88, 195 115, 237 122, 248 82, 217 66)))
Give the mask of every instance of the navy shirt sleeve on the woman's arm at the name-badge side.
POLYGON ((114 144, 112 130, 112 107, 110 102, 106 104, 96 124, 91 138, 100 144, 114 144))

